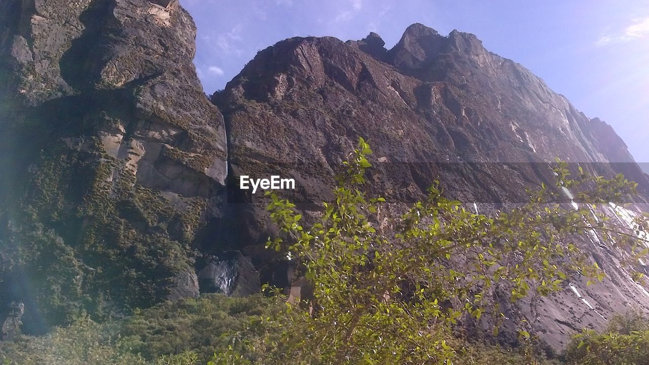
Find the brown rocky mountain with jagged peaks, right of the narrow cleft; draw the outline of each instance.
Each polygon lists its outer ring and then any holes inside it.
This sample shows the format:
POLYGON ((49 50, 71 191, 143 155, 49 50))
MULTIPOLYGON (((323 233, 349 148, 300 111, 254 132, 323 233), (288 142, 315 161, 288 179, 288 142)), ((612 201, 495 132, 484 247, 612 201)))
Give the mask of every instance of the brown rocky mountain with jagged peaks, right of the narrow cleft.
MULTIPOLYGON (((212 99, 225 116, 233 173, 295 178, 299 188, 286 195, 304 203, 306 218, 317 214, 310 203, 330 198, 333 175, 359 136, 374 150, 365 189, 395 207, 422 197, 439 179, 449 196, 489 214, 526 201, 525 188, 553 181, 556 157, 609 177, 625 173, 645 193, 649 187, 611 127, 458 31, 442 36, 411 25, 392 49, 378 34, 346 43, 291 38, 260 51, 212 99)), ((243 200, 249 205, 239 214, 255 228, 245 229, 238 246, 263 255, 263 202, 243 200)), ((615 253, 588 240, 583 245, 611 279, 594 286, 575 281, 579 295, 566 286, 540 304, 508 308, 509 333, 526 319, 562 347, 575 329, 601 328, 613 312, 635 305, 649 308, 615 253)), ((273 275, 262 270, 262 277, 273 275)))

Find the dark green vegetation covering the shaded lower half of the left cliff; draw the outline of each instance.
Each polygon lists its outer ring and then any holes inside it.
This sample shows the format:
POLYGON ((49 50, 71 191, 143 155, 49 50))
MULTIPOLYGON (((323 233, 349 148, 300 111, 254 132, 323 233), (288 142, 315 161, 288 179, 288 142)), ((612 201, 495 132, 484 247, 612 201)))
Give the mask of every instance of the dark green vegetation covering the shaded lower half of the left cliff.
POLYGON ((9 262, 2 270, 20 276, 7 285, 29 286, 36 299, 41 320, 30 311, 30 325, 149 307, 167 298, 175 275, 193 270, 191 242, 204 199, 180 198, 185 208, 173 207, 120 164, 97 146, 49 149, 40 157, 31 189, 0 238, 9 262))

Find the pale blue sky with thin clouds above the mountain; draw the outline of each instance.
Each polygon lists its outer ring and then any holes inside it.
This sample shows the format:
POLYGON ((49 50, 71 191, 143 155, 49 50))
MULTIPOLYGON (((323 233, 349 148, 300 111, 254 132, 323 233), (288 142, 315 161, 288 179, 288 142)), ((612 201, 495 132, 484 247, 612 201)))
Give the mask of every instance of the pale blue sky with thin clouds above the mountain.
POLYGON ((343 41, 377 32, 386 47, 422 23, 476 34, 590 118, 613 125, 649 172, 649 1, 180 0, 197 28, 204 90, 225 88, 256 53, 293 36, 343 41), (644 164, 646 163, 646 164, 644 164))

